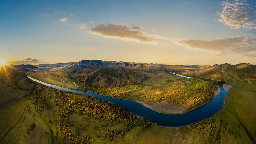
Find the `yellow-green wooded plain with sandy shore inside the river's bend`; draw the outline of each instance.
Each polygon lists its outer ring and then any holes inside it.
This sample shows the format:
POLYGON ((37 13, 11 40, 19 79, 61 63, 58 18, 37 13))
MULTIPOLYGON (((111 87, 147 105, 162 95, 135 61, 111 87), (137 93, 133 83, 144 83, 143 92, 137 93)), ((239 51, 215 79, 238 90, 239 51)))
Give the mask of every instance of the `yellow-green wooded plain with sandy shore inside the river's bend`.
POLYGON ((215 81, 181 78, 168 73, 150 74, 149 79, 138 85, 121 85, 91 88, 103 95, 135 100, 162 113, 189 112, 212 100, 215 81))

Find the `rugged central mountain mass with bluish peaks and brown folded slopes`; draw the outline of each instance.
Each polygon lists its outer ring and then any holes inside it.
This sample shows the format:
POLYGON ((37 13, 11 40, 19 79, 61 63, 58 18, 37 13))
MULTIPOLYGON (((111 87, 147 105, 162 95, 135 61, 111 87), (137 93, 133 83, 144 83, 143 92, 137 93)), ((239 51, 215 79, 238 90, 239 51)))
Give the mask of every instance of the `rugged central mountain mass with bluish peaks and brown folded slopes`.
POLYGON ((149 76, 173 70, 196 69, 168 64, 129 63, 102 60, 82 60, 70 64, 63 71, 84 87, 108 87, 113 85, 132 85, 141 83, 149 76))

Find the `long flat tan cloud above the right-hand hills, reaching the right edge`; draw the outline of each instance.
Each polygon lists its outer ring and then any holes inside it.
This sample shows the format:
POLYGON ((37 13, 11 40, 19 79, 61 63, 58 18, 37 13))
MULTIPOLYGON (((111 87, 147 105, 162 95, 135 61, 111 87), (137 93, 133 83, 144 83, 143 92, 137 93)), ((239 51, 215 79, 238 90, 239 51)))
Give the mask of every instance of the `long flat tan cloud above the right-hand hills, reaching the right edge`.
POLYGON ((243 54, 252 57, 248 53, 256 52, 256 39, 254 35, 236 35, 226 39, 190 40, 180 39, 178 44, 187 45, 190 48, 205 49, 219 52, 218 55, 243 54))

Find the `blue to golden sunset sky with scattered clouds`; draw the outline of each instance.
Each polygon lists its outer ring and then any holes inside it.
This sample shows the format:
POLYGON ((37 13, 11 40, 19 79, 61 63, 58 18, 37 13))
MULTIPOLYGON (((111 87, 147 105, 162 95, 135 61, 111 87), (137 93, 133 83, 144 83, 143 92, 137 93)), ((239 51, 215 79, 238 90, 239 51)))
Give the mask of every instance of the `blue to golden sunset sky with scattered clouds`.
POLYGON ((256 1, 0 0, 0 58, 256 64, 256 1))

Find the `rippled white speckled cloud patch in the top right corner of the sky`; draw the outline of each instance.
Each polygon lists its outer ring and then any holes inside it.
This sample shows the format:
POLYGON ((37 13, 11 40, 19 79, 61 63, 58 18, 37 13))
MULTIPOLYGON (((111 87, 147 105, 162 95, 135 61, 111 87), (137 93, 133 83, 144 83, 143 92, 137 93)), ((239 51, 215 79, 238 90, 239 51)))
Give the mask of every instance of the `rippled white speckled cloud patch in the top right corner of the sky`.
POLYGON ((220 18, 218 19, 220 22, 232 29, 256 28, 254 21, 256 11, 249 4, 245 3, 244 0, 224 1, 221 2, 221 5, 222 11, 219 13, 220 18))

